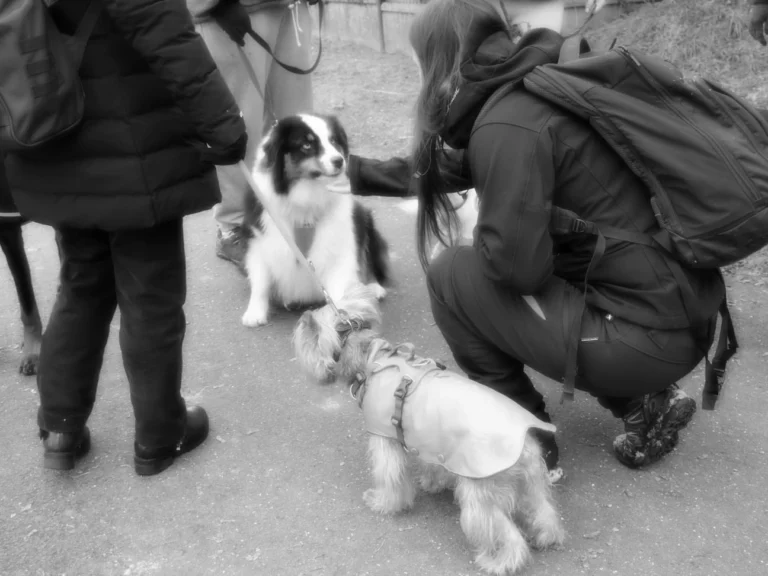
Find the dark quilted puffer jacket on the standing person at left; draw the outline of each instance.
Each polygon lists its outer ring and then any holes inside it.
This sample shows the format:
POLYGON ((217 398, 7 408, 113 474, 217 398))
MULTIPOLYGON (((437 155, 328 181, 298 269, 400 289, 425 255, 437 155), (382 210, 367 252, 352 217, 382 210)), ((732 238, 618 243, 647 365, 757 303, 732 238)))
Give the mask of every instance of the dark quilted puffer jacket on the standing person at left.
MULTIPOLYGON (((245 132, 183 0, 102 5, 80 67, 82 123, 34 152, 8 154, 19 211, 53 226, 136 229, 220 200, 215 168, 191 141, 226 148, 245 132)), ((59 0, 73 34, 88 0, 59 0)))

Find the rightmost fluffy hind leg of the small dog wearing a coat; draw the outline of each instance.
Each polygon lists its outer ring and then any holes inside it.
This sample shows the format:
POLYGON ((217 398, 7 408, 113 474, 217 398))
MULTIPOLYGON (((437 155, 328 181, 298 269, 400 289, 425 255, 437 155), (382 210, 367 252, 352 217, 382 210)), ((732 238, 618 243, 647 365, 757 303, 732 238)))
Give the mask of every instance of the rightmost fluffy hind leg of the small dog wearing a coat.
POLYGON ((525 470, 525 481, 520 482, 518 517, 534 548, 562 546, 565 530, 552 498, 552 487, 541 449, 530 435, 526 437, 523 453, 515 467, 525 470))

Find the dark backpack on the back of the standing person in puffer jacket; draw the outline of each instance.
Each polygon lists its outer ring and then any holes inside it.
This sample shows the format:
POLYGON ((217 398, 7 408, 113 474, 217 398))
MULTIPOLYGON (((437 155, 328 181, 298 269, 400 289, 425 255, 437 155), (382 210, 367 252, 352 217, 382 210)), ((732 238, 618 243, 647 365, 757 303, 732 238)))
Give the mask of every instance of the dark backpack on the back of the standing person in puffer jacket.
POLYGON ((0 0, 0 150, 32 150, 80 123, 78 69, 100 9, 91 0, 66 36, 43 0, 0 0))

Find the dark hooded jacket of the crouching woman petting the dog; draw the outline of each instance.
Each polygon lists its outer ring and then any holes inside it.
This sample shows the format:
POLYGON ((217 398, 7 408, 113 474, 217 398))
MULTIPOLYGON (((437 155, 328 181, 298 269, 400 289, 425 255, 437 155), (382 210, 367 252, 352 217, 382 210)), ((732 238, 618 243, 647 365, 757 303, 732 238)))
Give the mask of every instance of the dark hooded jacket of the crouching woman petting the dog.
MULTIPOLYGON (((495 34, 464 55, 465 83, 450 105, 441 133, 463 151, 449 167, 451 185, 474 187, 480 197, 474 247, 485 275, 522 294, 537 292, 554 274, 583 288, 593 236, 552 236, 552 206, 571 210, 598 226, 649 232, 657 226, 648 192, 602 138, 584 121, 537 98, 521 86, 489 107, 501 86, 522 79, 536 66, 557 62, 562 37, 538 29, 518 44, 495 34)), ((357 162, 353 189, 391 184, 378 169, 404 171, 402 162, 357 162)), ((391 188, 390 188, 391 189, 391 188)), ((386 191, 386 190, 385 190, 386 191)), ((690 326, 668 256, 648 246, 607 239, 590 272, 587 303, 630 322, 656 329, 690 326)), ((686 270, 696 317, 713 317, 724 297, 715 270, 686 270)))

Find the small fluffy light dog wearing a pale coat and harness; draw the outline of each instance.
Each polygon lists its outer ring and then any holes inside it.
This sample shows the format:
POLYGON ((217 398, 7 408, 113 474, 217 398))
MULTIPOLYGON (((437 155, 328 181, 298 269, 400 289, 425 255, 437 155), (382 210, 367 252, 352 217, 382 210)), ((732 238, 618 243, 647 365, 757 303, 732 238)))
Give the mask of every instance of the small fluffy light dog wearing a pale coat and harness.
POLYGON ((370 432, 373 488, 363 496, 375 512, 413 505, 416 487, 407 455, 418 457, 418 484, 452 489, 461 528, 491 574, 516 572, 535 548, 560 546, 565 533, 547 467, 531 428, 554 432, 509 398, 421 358, 410 344, 377 337, 380 312, 357 289, 329 307, 305 312, 294 332, 302 370, 319 382, 341 381, 363 410, 370 432))

